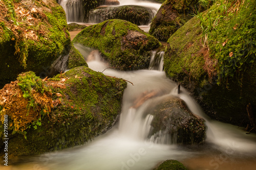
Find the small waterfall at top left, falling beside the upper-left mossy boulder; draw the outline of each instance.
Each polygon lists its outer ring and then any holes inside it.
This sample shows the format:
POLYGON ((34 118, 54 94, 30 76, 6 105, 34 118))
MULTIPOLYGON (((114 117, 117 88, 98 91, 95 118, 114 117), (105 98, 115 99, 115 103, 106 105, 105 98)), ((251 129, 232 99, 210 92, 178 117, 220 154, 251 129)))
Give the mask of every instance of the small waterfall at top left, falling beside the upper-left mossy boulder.
POLYGON ((59 0, 58 3, 66 12, 67 22, 83 22, 82 0, 59 0))

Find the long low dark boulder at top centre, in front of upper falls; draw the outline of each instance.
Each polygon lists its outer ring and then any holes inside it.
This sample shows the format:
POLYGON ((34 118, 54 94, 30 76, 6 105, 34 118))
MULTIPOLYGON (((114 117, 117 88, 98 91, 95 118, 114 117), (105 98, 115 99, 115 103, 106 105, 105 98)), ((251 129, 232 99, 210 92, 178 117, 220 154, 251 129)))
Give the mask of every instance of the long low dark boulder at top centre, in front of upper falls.
POLYGON ((154 14, 151 9, 140 6, 119 6, 96 8, 89 13, 89 21, 100 23, 108 19, 123 19, 138 26, 148 25, 154 14))

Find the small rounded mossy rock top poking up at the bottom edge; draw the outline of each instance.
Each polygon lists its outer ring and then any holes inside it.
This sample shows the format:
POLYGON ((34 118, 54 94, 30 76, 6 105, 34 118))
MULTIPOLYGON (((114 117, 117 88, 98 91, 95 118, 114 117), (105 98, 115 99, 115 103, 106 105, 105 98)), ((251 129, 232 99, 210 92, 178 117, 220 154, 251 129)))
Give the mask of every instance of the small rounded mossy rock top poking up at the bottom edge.
POLYGON ((187 168, 177 160, 166 160, 155 170, 187 170, 187 168))

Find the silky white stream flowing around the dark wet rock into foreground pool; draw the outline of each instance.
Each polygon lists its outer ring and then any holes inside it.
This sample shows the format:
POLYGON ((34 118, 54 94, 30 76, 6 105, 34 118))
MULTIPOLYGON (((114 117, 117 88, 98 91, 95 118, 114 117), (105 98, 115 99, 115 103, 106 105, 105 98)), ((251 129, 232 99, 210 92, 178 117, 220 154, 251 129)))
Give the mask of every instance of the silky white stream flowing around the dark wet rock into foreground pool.
POLYGON ((92 142, 63 151, 20 158, 16 165, 10 166, 11 169, 146 170, 153 169, 159 162, 167 159, 179 160, 189 169, 195 170, 255 167, 253 160, 256 158, 256 135, 245 134, 236 126, 211 120, 184 88, 181 87, 181 92, 177 93, 177 84, 166 78, 162 70, 124 72, 105 69, 109 66, 102 61, 97 51, 78 44, 75 47, 85 56, 93 70, 103 71, 105 75, 134 84, 128 83, 124 91, 119 122, 92 142), (161 91, 161 94, 135 109, 134 101, 140 94, 152 90, 161 91), (204 144, 165 144, 174 139, 162 136, 155 141, 148 137, 154 116, 147 114, 146 110, 152 103, 166 97, 182 99, 191 112, 205 119, 207 138, 204 144), (28 162, 24 163, 25 160, 28 162))

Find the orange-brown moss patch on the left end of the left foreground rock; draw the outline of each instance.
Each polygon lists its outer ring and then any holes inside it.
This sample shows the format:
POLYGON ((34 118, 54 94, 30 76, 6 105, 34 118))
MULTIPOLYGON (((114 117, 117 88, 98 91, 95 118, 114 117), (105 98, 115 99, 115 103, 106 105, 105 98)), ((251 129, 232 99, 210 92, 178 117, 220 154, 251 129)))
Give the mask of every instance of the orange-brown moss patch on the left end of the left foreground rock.
MULTIPOLYGON (((4 115, 8 115, 13 123, 14 131, 23 132, 31 123, 36 122, 43 114, 49 115, 53 108, 52 93, 45 91, 43 94, 32 88, 31 96, 35 104, 35 108, 28 109, 29 99, 23 97, 23 91, 18 85, 18 81, 6 84, 0 90, 0 111, 1 122, 4 121, 4 115)), ((10 121, 9 119, 9 121, 10 121)))

